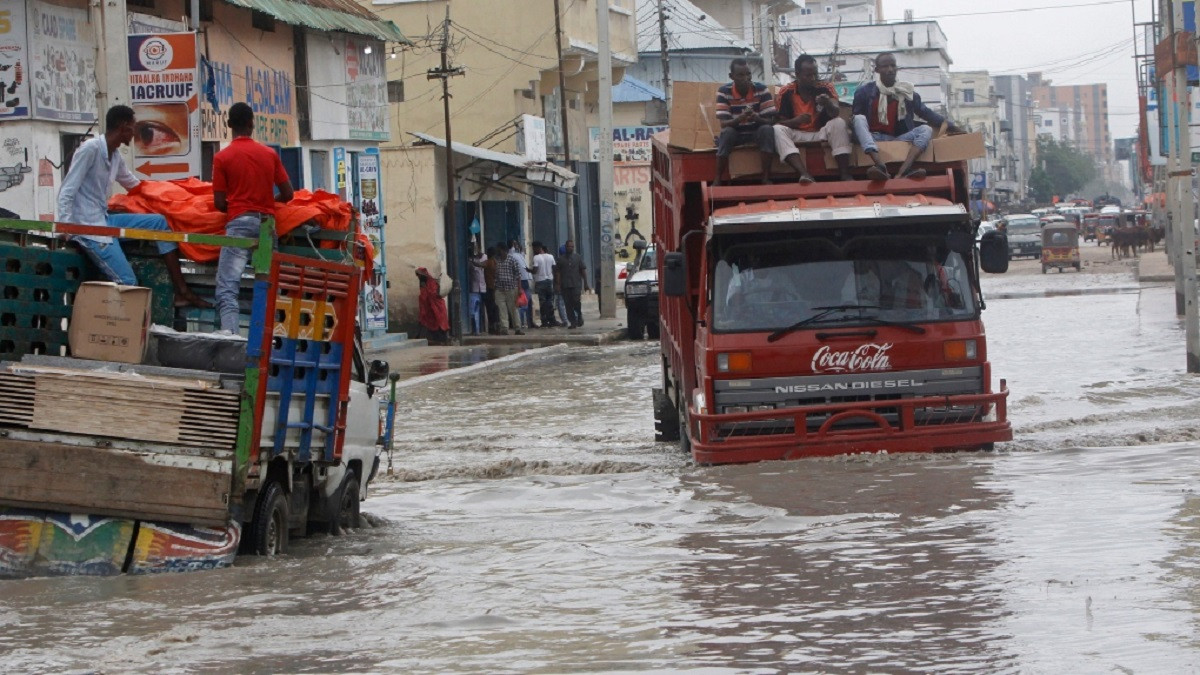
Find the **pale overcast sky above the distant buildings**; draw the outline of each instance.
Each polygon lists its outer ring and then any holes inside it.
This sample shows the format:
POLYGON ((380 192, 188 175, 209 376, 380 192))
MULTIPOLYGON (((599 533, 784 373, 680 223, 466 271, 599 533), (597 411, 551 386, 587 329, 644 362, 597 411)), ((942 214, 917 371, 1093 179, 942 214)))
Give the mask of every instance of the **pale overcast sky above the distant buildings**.
POLYGON ((954 71, 1040 71, 1052 84, 1108 84, 1109 131, 1123 138, 1138 129, 1132 7, 1146 22, 1154 1, 883 0, 883 18, 902 20, 912 10, 913 19, 936 19, 949 40, 954 71), (1055 8, 1021 11, 1048 6, 1055 8))

